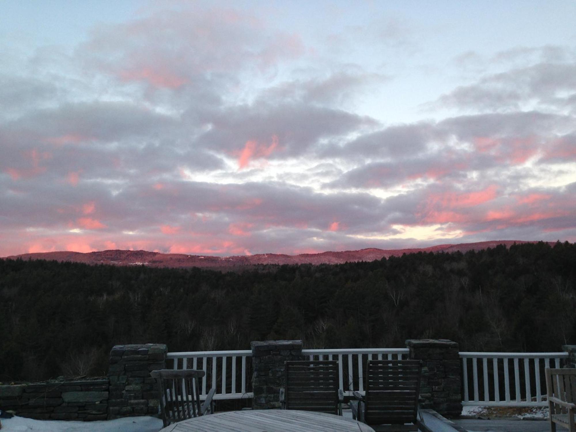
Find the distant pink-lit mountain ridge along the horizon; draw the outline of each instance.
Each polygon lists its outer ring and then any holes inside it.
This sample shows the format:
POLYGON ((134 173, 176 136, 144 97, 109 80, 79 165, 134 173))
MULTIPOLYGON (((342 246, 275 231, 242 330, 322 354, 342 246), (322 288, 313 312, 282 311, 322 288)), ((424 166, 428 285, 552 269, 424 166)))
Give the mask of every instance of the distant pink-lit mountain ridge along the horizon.
MULTIPOLYGON (((259 253, 256 255, 238 256, 210 256, 187 255, 185 253, 160 253, 147 251, 122 251, 119 249, 99 252, 37 252, 23 253, 22 255, 7 256, 5 259, 43 259, 60 262, 75 262, 86 264, 112 264, 116 266, 150 267, 203 267, 226 268, 241 266, 256 266, 257 264, 342 264, 346 262, 374 261, 382 257, 402 256, 404 253, 418 252, 468 252, 481 249, 494 248, 505 245, 509 248, 514 243, 537 243, 537 241, 522 240, 495 240, 480 241, 476 243, 441 244, 428 248, 410 249, 377 249, 367 248, 359 251, 301 253, 300 255, 285 255, 281 253, 259 253)), ((555 242, 548 242, 554 245, 555 242)))

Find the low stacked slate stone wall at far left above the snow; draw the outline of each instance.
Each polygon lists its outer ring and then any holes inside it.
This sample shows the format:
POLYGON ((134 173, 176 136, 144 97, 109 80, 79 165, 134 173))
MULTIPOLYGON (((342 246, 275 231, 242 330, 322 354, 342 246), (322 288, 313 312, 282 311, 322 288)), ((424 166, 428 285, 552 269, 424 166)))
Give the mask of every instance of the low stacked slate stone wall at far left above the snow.
POLYGON ((0 409, 46 420, 106 420, 108 378, 0 385, 0 409))

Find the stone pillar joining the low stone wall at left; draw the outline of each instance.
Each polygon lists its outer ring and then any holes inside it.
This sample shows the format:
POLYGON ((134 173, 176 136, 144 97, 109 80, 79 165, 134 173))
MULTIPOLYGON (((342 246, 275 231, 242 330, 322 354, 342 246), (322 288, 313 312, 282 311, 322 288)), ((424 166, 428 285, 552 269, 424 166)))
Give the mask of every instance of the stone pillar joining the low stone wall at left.
POLYGON ((158 387, 150 371, 165 369, 165 344, 116 345, 110 351, 108 420, 158 414, 158 387))

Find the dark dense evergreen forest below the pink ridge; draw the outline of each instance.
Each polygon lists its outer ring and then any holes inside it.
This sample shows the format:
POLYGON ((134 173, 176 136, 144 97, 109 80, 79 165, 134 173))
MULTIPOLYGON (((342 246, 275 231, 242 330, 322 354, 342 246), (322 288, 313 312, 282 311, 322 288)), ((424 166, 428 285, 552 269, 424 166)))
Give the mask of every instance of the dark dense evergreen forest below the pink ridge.
POLYGON ((227 273, 0 260, 0 381, 105 374, 119 343, 559 351, 576 343, 575 269, 568 242, 227 273))

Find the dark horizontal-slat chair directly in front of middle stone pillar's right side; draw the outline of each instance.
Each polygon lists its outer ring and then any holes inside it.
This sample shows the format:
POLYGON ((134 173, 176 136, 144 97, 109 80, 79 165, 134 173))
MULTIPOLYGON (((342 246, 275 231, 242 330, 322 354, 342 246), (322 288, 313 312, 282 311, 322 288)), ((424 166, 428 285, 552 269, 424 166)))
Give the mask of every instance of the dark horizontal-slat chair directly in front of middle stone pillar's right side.
POLYGON ((284 410, 342 415, 344 393, 338 385, 337 361, 287 361, 286 386, 280 389, 284 410))

